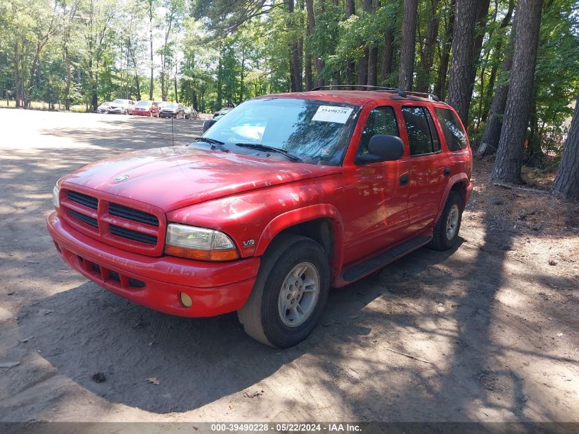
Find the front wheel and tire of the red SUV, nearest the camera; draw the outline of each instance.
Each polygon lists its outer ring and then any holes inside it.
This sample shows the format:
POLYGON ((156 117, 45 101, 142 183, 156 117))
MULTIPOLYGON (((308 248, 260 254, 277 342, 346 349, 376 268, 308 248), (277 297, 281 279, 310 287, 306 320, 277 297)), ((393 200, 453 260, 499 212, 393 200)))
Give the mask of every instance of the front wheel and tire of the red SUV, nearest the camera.
POLYGON ((262 257, 253 291, 237 311, 245 333, 274 348, 289 348, 315 328, 330 288, 330 265, 321 245, 285 235, 262 257))

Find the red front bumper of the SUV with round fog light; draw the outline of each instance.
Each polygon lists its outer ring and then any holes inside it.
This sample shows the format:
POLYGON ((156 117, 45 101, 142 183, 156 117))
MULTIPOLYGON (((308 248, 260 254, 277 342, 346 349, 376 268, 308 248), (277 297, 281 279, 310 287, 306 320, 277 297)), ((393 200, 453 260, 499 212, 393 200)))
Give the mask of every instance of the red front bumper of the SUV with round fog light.
POLYGON ((78 232, 51 213, 48 231, 60 256, 101 287, 156 311, 208 317, 236 311, 249 297, 259 258, 211 263, 172 256, 160 258, 125 252, 78 232), (193 305, 185 307, 180 293, 193 305))

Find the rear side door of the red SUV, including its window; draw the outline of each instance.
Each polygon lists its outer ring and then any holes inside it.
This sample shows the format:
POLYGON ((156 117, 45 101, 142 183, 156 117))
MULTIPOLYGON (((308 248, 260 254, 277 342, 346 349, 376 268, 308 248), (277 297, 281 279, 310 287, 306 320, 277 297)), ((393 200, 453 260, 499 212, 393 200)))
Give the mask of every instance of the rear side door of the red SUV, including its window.
POLYGON ((408 229, 420 232, 433 223, 450 175, 449 159, 426 105, 402 106, 406 141, 410 147, 408 229))

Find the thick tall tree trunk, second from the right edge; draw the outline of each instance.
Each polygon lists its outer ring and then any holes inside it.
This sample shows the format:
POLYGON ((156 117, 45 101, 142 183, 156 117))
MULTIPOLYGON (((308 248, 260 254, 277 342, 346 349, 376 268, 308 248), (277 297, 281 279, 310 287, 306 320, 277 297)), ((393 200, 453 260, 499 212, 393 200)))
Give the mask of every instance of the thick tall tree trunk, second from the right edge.
POLYGON ((513 71, 506 99, 497 158, 491 173, 495 182, 521 182, 523 142, 532 99, 534 69, 543 0, 519 0, 513 71))

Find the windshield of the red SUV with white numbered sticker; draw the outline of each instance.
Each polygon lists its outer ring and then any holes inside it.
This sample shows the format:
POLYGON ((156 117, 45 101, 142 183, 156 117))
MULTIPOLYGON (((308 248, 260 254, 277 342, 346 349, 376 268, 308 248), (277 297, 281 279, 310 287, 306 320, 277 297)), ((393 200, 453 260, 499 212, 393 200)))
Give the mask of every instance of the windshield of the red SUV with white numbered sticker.
POLYGON ((251 99, 219 119, 204 137, 239 154, 249 149, 236 143, 251 143, 282 149, 310 164, 340 165, 358 110, 315 99, 251 99))

